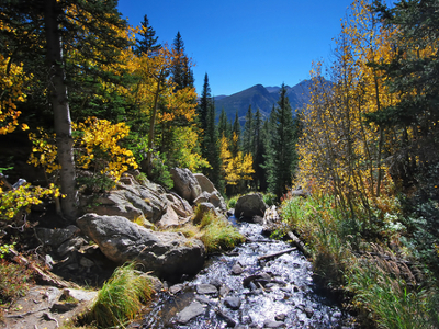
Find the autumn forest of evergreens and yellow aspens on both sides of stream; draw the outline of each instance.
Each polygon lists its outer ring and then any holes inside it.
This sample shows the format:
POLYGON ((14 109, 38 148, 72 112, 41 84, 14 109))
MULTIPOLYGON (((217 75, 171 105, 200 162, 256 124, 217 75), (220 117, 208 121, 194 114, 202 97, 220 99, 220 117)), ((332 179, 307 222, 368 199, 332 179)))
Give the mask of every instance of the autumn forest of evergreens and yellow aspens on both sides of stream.
POLYGON ((365 321, 439 326, 439 1, 356 0, 333 61, 312 65, 311 103, 291 109, 282 86, 270 116, 249 106, 244 126, 216 121, 207 73, 196 93, 179 32, 158 44, 116 1, 5 1, 0 25, 0 134, 25 135, 45 173, 1 186, 2 220, 48 194, 75 220, 79 192, 134 169, 171 189, 169 169, 189 168, 227 196, 273 193, 365 321), (291 198, 299 186, 311 196, 291 198))

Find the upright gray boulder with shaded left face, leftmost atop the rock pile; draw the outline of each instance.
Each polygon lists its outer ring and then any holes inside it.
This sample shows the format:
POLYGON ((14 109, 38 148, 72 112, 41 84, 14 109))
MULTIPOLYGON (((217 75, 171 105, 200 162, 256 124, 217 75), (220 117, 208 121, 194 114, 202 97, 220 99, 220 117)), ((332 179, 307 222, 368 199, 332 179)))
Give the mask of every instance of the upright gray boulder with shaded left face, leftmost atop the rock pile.
POLYGON ((202 192, 193 173, 187 168, 171 168, 170 173, 173 181, 173 189, 177 194, 192 204, 202 192))

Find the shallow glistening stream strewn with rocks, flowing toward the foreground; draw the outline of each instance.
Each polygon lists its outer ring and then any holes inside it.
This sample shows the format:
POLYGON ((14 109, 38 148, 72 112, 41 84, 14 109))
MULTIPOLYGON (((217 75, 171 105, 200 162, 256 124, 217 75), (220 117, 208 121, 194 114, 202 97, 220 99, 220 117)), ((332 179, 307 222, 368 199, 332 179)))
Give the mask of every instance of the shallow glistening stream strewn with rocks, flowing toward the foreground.
POLYGON ((262 236, 258 224, 237 225, 247 242, 210 257, 191 281, 160 293, 140 328, 354 328, 349 315, 318 294, 312 264, 300 251, 262 236))

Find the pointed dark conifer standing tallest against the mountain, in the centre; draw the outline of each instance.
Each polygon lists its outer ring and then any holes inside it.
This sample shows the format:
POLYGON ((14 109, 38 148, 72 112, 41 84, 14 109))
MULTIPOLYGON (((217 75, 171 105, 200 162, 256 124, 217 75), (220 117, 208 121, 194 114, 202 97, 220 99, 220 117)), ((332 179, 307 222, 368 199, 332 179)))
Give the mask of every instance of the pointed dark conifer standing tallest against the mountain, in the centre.
POLYGON ((294 122, 285 84, 279 92, 278 105, 271 113, 271 138, 268 148, 268 190, 278 197, 291 185, 294 170, 294 122))

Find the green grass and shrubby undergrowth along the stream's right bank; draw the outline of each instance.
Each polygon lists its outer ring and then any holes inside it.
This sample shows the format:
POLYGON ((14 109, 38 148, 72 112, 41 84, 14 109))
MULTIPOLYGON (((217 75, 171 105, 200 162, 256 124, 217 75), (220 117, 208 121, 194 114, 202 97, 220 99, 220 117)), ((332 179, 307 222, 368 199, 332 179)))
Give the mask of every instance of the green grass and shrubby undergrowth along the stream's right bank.
POLYGON ((364 322, 439 328, 438 285, 408 242, 397 201, 374 202, 373 220, 342 212, 330 196, 289 198, 280 212, 312 251, 317 277, 353 295, 351 307, 364 322))

